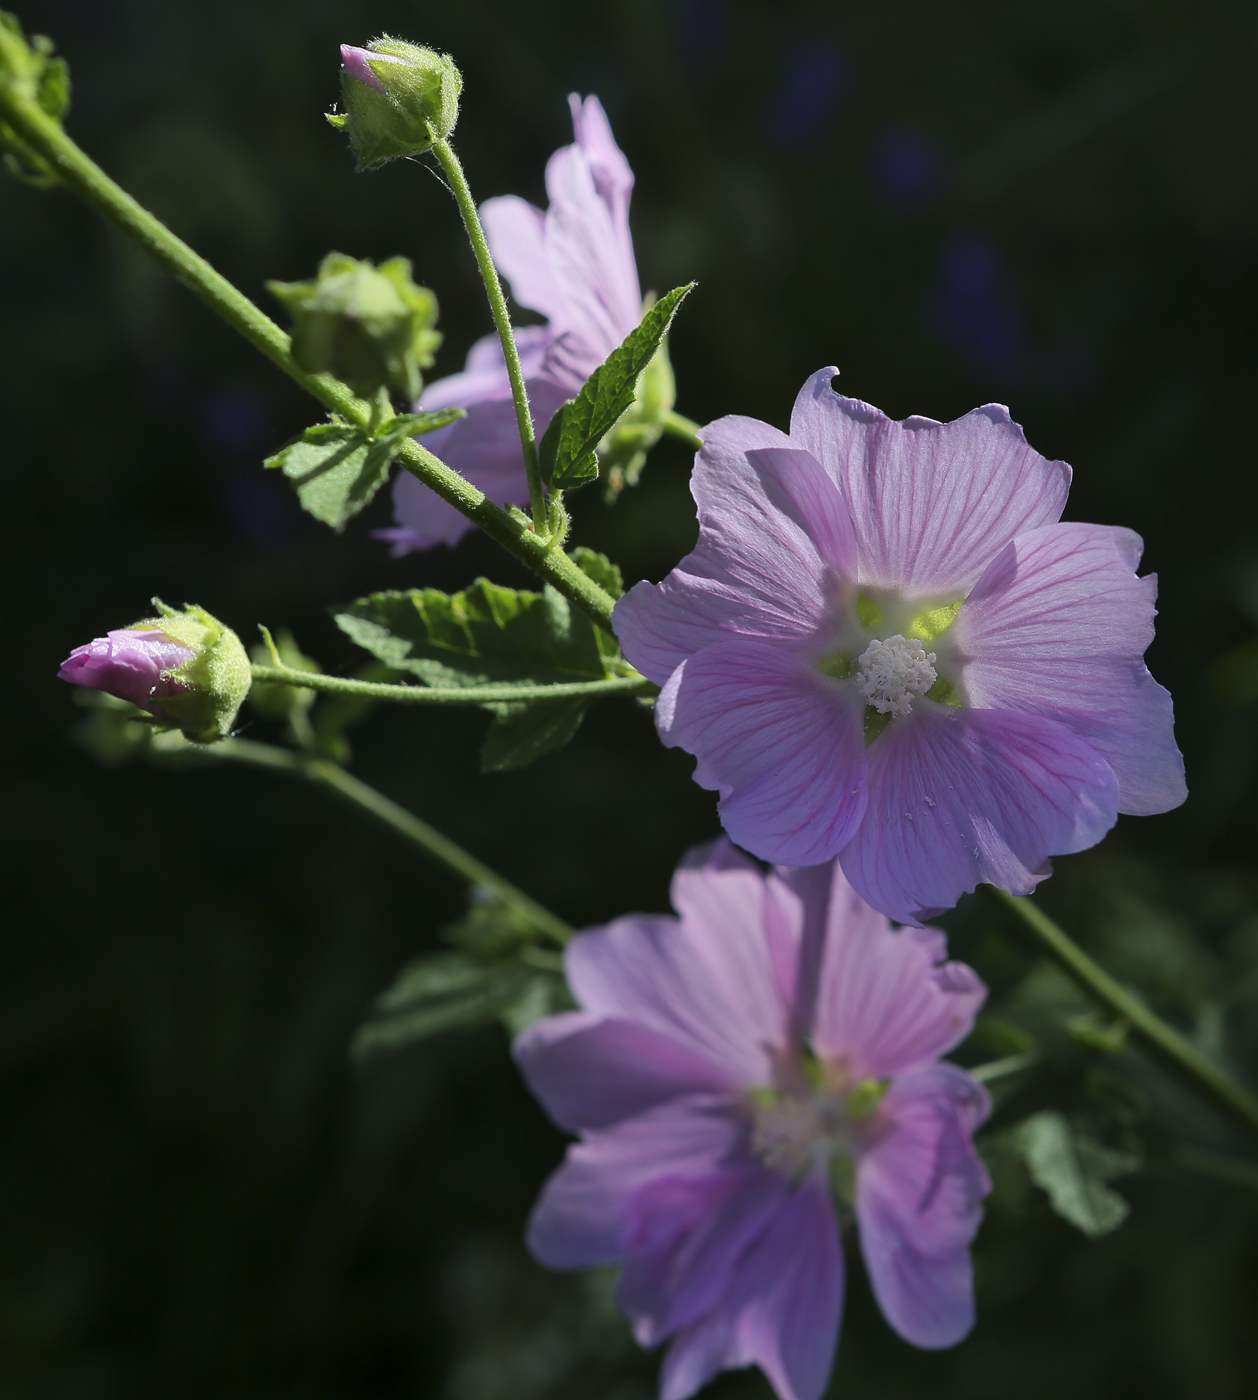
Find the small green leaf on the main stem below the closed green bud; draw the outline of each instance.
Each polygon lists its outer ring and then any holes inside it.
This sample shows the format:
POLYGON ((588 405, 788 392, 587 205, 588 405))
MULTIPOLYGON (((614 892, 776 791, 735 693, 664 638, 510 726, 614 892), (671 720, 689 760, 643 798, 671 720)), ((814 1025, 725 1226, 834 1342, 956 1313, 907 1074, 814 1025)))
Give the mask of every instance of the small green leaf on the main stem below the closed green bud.
POLYGON ((460 417, 462 409, 403 413, 390 419, 376 437, 346 423, 319 423, 269 456, 263 466, 280 468, 297 487, 302 507, 341 531, 381 489, 403 438, 431 433, 460 417))

